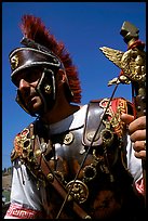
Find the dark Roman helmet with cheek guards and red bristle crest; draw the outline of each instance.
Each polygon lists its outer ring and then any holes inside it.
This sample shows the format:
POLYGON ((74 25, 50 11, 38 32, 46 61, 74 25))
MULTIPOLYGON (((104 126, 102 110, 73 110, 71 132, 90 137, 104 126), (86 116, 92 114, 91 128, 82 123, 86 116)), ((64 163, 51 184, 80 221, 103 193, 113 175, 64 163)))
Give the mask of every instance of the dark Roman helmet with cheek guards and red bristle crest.
MULTIPOLYGON (((10 53, 11 79, 17 87, 17 76, 27 68, 39 67, 42 75, 39 79, 36 91, 43 102, 43 108, 39 115, 52 108, 56 99, 55 76, 58 69, 63 69, 66 75, 65 92, 68 102, 81 102, 81 87, 76 66, 66 51, 63 42, 57 42, 55 37, 48 30, 40 17, 24 15, 22 17, 21 29, 24 47, 16 48, 10 53), (50 100, 50 106, 48 101, 50 100)), ((16 102, 31 116, 17 90, 16 102)))

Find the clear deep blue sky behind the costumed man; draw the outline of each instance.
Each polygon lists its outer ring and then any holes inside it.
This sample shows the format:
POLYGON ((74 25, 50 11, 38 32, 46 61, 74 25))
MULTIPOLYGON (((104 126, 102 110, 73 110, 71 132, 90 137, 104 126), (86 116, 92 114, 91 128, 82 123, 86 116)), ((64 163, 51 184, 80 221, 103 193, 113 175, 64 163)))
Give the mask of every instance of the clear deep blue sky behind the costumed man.
MULTIPOLYGON (((120 69, 100 52, 100 47, 126 51, 120 29, 129 21, 139 28, 146 41, 146 2, 2 2, 2 168, 10 167, 10 154, 16 133, 35 120, 15 102, 11 82, 9 53, 21 47, 21 17, 40 16, 55 38, 65 42, 78 67, 82 84, 82 104, 110 96, 110 79, 120 69)), ((120 86, 116 96, 131 100, 131 86, 120 86)))

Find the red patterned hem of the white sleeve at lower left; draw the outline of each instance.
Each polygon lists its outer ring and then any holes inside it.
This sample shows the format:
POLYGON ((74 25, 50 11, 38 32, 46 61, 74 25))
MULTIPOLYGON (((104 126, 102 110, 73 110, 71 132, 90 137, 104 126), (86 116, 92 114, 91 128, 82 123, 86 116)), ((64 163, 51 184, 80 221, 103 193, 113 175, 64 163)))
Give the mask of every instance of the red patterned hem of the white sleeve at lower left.
POLYGON ((41 214, 41 211, 24 208, 19 204, 11 204, 6 211, 8 217, 16 217, 18 219, 36 219, 41 214))

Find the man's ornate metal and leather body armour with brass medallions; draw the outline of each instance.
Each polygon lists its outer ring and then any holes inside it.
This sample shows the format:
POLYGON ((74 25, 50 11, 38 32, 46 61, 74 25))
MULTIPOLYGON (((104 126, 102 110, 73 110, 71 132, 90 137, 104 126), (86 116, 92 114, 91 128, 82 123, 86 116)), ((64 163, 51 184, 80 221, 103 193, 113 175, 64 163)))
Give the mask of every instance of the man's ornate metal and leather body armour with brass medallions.
POLYGON ((84 126, 75 130, 49 136, 37 120, 15 138, 12 160, 19 157, 37 184, 44 183, 49 219, 121 220, 124 211, 129 217, 135 211, 125 125, 120 120, 132 106, 113 99, 107 107, 108 101, 91 101, 84 126))

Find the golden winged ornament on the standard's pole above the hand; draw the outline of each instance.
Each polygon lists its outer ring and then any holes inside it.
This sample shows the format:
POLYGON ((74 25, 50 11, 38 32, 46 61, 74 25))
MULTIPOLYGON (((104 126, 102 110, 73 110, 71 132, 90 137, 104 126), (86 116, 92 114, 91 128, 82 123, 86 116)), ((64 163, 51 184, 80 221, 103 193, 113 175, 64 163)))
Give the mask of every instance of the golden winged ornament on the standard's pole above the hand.
POLYGON ((110 49, 107 47, 99 48, 103 53, 113 64, 123 70, 121 76, 109 81, 109 84, 113 83, 130 83, 132 81, 142 82, 146 80, 146 52, 138 49, 130 49, 126 52, 110 49), (126 79, 127 78, 127 79, 126 79))

